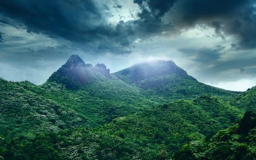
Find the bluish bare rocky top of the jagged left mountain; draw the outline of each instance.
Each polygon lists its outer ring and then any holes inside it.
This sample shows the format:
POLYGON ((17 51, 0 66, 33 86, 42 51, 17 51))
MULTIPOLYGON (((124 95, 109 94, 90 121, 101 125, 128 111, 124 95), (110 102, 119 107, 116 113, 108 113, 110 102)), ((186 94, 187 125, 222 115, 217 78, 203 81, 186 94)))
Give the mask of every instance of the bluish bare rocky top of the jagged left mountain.
POLYGON ((99 76, 110 78, 110 71, 104 64, 97 64, 93 67, 91 64, 85 64, 78 55, 71 55, 48 81, 64 84, 68 89, 78 89, 99 76))

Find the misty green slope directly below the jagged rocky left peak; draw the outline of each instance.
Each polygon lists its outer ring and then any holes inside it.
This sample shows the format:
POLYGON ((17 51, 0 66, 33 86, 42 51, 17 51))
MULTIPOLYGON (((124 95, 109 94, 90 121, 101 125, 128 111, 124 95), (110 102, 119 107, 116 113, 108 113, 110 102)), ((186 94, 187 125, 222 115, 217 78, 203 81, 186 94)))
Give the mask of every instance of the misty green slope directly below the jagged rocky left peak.
POLYGON ((42 88, 44 97, 76 110, 90 120, 92 127, 157 104, 143 97, 136 87, 115 77, 86 84, 79 90, 69 90, 52 82, 45 83, 42 88))

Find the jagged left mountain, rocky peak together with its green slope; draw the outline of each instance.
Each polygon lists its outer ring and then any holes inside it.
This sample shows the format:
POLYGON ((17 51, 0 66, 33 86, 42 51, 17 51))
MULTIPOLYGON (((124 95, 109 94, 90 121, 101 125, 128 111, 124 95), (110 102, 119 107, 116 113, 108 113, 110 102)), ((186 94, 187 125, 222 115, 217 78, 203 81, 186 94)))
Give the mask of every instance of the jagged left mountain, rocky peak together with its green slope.
POLYGON ((71 55, 41 87, 40 95, 73 108, 89 118, 92 127, 156 103, 143 97, 137 87, 110 75, 105 65, 86 65, 78 55, 71 55))

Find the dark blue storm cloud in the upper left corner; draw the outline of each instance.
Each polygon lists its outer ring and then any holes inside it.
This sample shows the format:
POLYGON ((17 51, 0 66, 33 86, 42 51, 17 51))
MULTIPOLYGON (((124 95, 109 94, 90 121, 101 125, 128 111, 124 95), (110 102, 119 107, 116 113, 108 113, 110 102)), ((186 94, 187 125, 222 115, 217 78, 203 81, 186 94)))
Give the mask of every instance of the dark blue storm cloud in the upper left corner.
POLYGON ((91 34, 103 21, 100 11, 91 1, 1 1, 1 12, 20 20, 28 29, 45 31, 76 40, 86 39, 80 33, 91 34), (95 21, 97 19, 98 21, 95 21))

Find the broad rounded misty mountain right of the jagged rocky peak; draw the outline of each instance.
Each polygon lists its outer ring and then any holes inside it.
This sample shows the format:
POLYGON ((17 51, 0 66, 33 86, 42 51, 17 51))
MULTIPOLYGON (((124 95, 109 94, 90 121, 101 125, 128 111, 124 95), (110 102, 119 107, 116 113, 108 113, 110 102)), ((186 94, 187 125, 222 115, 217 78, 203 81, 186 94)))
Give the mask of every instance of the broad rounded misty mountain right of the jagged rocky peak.
POLYGON ((156 101, 195 98, 202 94, 229 99, 238 93, 200 83, 173 61, 143 62, 113 75, 126 83, 138 86, 143 95, 156 101))

